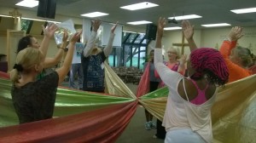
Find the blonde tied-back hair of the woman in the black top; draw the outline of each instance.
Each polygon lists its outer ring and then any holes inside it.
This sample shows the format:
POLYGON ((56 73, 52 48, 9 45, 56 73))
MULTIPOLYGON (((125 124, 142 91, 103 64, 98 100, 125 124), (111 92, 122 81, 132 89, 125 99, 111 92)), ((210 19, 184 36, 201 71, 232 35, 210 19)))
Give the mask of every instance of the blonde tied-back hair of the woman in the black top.
MULTIPOLYGON (((30 72, 32 67, 40 64, 42 59, 43 54, 39 49, 26 48, 20 50, 20 52, 17 54, 15 64, 22 67, 20 72, 30 72)), ((19 83, 20 72, 16 68, 10 72, 10 80, 13 83, 19 83)))

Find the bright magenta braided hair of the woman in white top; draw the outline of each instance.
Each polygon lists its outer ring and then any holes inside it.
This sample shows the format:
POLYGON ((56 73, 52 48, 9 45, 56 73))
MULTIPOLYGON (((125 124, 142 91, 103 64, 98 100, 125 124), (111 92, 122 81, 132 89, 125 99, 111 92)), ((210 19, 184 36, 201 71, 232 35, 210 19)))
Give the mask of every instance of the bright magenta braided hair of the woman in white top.
POLYGON ((229 71, 222 55, 216 49, 195 49, 190 54, 191 66, 195 69, 192 79, 207 78, 209 83, 218 86, 228 82, 229 71))

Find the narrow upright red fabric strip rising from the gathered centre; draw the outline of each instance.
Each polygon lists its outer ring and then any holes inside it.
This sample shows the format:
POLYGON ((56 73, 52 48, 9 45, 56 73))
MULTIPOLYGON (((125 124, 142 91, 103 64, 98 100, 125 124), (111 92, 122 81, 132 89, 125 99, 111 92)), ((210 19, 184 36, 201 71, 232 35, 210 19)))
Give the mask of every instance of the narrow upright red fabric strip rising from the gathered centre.
POLYGON ((146 66, 144 72, 143 72, 143 76, 140 80, 140 83, 137 86, 137 97, 141 97, 144 94, 148 94, 149 92, 149 62, 148 65, 146 66))

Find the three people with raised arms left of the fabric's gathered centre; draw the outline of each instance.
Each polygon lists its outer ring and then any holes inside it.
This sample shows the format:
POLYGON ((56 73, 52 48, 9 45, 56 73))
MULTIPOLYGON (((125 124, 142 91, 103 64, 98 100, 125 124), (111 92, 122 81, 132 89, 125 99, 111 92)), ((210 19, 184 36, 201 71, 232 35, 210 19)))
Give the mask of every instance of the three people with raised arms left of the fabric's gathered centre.
MULTIPOLYGON (((83 49, 78 43, 82 31, 76 32, 67 44, 67 31, 64 31, 62 43, 54 58, 46 58, 50 38, 53 37, 58 27, 49 24, 44 28, 44 39, 41 44, 32 36, 22 37, 18 43, 17 57, 14 69, 10 72, 10 79, 13 83, 11 95, 15 112, 20 123, 29 123, 38 120, 48 119, 53 116, 56 90, 70 72, 70 67, 75 68, 77 61, 73 62, 73 55, 81 53, 80 63, 83 67, 84 91, 104 92, 104 67, 102 63, 112 51, 114 38, 114 25, 111 29, 108 46, 101 50, 96 48, 96 32, 101 25, 100 20, 92 22, 90 39, 83 49), (82 52, 75 48, 82 49, 82 52), (64 62, 55 72, 44 72, 47 68, 57 65, 64 52, 64 62), (73 64, 73 65, 72 65, 73 64)), ((82 70, 82 69, 81 69, 82 70)))

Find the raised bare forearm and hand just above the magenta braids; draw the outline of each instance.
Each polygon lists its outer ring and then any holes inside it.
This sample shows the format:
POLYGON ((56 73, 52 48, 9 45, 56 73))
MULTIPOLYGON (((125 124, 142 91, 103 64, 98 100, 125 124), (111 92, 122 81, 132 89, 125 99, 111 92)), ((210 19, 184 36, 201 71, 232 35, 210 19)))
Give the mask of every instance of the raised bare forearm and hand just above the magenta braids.
POLYGON ((197 49, 197 46, 194 41, 194 26, 191 26, 189 23, 189 20, 183 20, 182 21, 182 27, 183 27, 183 34, 184 37, 187 39, 189 43, 189 49, 192 52, 193 50, 197 49))

